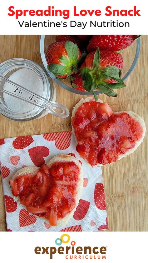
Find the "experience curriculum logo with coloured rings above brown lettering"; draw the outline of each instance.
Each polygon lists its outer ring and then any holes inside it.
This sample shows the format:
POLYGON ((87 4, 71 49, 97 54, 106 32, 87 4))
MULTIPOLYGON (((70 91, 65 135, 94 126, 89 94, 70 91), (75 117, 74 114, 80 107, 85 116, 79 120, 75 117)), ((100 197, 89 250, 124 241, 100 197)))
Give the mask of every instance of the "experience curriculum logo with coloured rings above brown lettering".
POLYGON ((71 237, 68 234, 63 234, 60 238, 56 238, 55 244, 57 247, 36 246, 34 252, 36 254, 49 254, 50 259, 53 259, 53 255, 56 253, 64 255, 66 259, 106 259, 106 246, 76 246, 76 241, 71 241, 71 237), (68 246, 65 246, 65 244, 68 244, 68 246))

